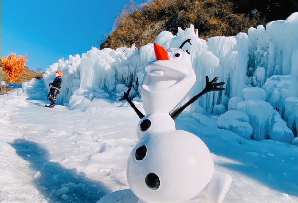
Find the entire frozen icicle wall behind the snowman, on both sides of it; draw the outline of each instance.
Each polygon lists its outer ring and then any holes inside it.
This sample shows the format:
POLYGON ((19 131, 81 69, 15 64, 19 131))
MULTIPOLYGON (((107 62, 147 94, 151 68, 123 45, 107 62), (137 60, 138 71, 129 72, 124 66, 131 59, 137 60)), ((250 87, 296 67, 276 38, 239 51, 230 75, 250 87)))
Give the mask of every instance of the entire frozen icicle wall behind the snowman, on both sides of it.
MULTIPOLYGON (((185 113, 202 112, 202 108, 216 115, 240 110, 249 116, 253 139, 289 142, 292 135, 288 135, 288 130, 296 132, 297 129, 297 16, 296 12, 286 20, 269 22, 266 28, 251 27, 248 34, 212 37, 208 41, 199 38, 192 24, 185 31, 178 28, 176 36, 168 31, 161 32, 155 42, 165 49, 177 48, 191 39, 192 45, 186 44, 184 49, 190 52, 197 81, 184 103, 202 91, 206 75, 218 76, 218 82, 226 83, 225 91, 205 94, 185 113)), ((153 43, 139 50, 135 45, 116 50, 92 47, 81 57, 69 55, 69 60, 58 60, 47 68, 41 81, 33 79, 23 83, 18 93, 26 92, 32 99, 45 99, 48 84, 55 78, 55 72, 61 70, 57 104, 74 108, 96 98, 119 100, 128 87, 132 87, 130 97, 140 101, 139 85, 144 67, 153 60, 153 43)))

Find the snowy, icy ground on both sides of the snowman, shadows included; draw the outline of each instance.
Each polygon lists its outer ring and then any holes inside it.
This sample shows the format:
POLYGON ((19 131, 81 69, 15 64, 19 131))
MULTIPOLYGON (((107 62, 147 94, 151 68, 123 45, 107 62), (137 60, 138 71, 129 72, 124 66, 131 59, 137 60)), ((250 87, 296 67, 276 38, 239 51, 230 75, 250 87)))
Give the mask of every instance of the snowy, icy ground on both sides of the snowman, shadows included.
MULTIPOLYGON (((1 203, 95 203, 129 188, 126 161, 139 118, 126 102, 95 99, 69 110, 22 96, 1 95, 0 101, 1 203)), ((232 176, 224 202, 297 202, 296 145, 246 140, 183 115, 175 122, 206 143, 217 171, 232 176)))

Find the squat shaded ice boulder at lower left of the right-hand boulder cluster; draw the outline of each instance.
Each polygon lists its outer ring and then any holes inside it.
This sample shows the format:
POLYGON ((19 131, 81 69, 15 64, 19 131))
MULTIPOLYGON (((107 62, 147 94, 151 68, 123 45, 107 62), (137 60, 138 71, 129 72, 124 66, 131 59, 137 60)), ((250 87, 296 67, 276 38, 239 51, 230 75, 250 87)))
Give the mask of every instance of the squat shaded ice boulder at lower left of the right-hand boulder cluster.
POLYGON ((217 119, 218 128, 232 131, 239 136, 249 140, 253 133, 253 128, 249 124, 248 116, 237 110, 230 110, 221 114, 217 119))

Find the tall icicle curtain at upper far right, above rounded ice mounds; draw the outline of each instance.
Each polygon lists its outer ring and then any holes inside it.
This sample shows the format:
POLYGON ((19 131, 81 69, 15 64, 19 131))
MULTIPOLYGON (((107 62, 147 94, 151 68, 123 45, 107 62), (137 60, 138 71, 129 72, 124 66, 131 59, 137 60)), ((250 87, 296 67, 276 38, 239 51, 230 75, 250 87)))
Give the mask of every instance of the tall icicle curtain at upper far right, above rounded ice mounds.
MULTIPOLYGON (((297 13, 285 21, 273 21, 266 29, 259 25, 248 29, 250 48, 250 67, 253 71, 259 67, 266 70, 266 78, 272 75, 291 73, 291 57, 297 48, 297 13)), ((297 56, 297 55, 296 55, 297 56)))

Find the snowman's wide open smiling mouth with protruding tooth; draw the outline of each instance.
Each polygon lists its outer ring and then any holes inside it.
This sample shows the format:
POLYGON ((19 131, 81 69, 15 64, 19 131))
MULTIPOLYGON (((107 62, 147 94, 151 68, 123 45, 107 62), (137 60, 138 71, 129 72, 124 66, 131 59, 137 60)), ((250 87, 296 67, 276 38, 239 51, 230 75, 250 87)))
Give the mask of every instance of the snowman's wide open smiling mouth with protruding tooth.
POLYGON ((144 78, 142 87, 146 90, 159 91, 167 89, 183 80, 185 75, 180 71, 157 67, 151 69, 146 78, 144 78))

